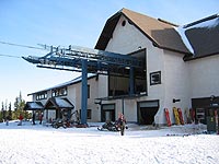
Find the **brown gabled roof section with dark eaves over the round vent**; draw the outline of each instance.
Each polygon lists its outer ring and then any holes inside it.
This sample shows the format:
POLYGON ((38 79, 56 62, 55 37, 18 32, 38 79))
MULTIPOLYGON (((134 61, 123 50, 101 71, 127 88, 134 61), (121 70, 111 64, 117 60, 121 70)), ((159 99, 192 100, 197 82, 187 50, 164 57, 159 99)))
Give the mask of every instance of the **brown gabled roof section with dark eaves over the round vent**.
POLYGON ((124 15, 129 23, 134 24, 142 34, 145 34, 154 46, 183 54, 191 54, 183 43, 180 34, 175 31, 175 25, 130 11, 128 9, 122 9, 106 21, 106 24, 96 43, 96 49, 105 50, 122 15, 124 15))

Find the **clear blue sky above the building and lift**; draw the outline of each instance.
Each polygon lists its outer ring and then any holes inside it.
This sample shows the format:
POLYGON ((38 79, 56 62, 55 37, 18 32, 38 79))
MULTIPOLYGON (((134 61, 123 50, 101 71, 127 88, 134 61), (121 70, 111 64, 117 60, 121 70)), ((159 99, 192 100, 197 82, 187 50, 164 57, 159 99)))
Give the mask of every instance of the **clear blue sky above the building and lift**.
MULTIPOLYGON (((218 0, 0 0, 0 42, 93 48, 106 20, 122 8, 183 25, 219 13, 218 7, 218 0)), ((25 101, 31 101, 28 93, 80 75, 2 56, 46 52, 0 44, 0 103, 13 104, 20 91, 25 101)))

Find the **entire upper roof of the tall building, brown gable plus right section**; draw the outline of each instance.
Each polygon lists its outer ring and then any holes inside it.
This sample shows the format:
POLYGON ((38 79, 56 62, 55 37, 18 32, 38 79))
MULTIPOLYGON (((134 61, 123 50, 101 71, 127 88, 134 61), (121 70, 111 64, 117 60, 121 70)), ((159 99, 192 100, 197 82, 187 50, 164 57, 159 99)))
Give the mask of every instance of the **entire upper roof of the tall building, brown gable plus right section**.
POLYGON ((96 43, 96 49, 106 48, 122 15, 145 34, 154 46, 183 52, 186 55, 185 60, 219 54, 219 14, 177 26, 128 9, 122 9, 106 21, 96 43))

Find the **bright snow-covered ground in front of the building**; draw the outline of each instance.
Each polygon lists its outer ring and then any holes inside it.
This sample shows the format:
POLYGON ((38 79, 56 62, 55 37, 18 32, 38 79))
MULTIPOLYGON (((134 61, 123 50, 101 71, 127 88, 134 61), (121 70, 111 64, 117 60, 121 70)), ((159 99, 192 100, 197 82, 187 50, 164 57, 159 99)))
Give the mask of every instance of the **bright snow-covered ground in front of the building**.
POLYGON ((201 133, 203 125, 129 125, 125 136, 99 131, 100 124, 68 129, 16 125, 0 124, 0 164, 219 163, 219 136, 201 133))

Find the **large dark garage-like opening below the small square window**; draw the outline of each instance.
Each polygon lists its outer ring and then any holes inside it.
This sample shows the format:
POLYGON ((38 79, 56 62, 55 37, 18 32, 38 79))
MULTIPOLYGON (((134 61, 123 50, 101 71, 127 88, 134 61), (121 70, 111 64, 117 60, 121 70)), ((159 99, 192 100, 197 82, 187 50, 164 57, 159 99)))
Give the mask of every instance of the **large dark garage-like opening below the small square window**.
POLYGON ((159 110, 159 101, 148 101, 138 103, 138 124, 152 125, 154 116, 159 110))

